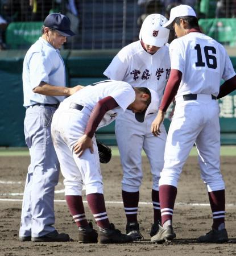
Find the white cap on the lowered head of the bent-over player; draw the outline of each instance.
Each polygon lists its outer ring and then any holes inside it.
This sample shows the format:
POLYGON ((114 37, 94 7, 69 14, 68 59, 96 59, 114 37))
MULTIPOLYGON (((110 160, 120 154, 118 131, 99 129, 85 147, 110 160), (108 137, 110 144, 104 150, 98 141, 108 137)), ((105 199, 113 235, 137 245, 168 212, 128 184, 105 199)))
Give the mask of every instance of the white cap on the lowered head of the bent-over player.
POLYGON ((144 122, 144 119, 147 117, 148 114, 154 114, 158 112, 158 106, 159 106, 158 93, 155 92, 155 90, 152 90, 150 88, 147 88, 147 89, 148 89, 148 94, 151 97, 151 102, 143 112, 135 113, 135 118, 140 123, 144 122))

